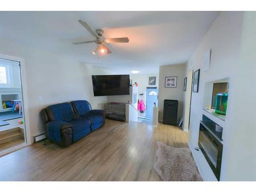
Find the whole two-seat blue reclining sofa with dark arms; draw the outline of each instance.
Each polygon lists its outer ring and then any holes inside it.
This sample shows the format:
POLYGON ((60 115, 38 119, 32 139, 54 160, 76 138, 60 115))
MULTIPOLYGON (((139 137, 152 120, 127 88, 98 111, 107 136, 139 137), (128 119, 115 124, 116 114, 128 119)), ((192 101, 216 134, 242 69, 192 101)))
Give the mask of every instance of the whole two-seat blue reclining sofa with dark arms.
POLYGON ((58 103, 41 110, 46 137, 60 145, 69 146, 89 135, 105 123, 104 110, 92 110, 86 100, 58 103))

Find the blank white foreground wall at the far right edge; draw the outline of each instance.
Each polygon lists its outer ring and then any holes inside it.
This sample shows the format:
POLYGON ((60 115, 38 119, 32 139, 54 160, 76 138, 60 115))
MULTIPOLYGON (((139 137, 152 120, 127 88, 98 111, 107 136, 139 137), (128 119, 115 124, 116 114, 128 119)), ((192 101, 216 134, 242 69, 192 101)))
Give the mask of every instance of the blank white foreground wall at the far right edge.
POLYGON ((245 12, 222 178, 256 181, 256 12, 245 12))

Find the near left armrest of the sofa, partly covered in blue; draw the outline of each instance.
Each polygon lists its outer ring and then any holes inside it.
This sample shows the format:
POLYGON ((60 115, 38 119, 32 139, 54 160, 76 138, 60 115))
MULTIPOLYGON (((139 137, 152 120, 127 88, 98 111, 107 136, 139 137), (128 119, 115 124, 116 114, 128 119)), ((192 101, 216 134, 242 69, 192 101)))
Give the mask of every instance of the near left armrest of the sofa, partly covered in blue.
POLYGON ((64 121, 50 121, 45 124, 46 137, 60 146, 72 143, 73 126, 64 121))

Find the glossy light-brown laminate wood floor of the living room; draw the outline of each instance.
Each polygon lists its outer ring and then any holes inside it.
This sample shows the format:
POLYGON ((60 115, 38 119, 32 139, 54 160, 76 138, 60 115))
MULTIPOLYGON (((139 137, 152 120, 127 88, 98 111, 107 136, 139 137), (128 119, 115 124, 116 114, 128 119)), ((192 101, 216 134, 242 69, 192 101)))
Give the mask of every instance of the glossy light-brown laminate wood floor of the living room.
POLYGON ((156 142, 188 147, 188 132, 138 122, 106 120, 67 148, 38 142, 0 158, 0 181, 161 181, 156 142))

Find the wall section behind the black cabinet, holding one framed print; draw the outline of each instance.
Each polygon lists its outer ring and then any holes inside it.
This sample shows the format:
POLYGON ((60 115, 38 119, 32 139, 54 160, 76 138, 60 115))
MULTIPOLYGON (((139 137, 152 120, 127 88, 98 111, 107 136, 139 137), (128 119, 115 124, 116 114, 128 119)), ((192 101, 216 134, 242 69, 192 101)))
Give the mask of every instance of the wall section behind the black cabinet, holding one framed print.
POLYGON ((163 101, 164 99, 178 100, 178 119, 183 114, 183 83, 186 73, 186 65, 168 65, 160 66, 159 68, 159 97, 158 97, 158 109, 159 109, 159 121, 163 121, 163 101), (177 76, 177 88, 165 88, 165 77, 177 76))

